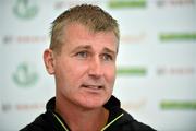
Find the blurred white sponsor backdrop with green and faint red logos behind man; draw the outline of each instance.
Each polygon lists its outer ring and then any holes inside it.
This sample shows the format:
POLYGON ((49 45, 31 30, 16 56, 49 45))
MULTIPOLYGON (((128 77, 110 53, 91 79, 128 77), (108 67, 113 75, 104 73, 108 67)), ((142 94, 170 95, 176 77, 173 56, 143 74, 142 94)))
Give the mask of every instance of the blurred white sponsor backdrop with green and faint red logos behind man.
POLYGON ((195 131, 196 0, 0 0, 0 131, 32 122, 54 96, 42 52, 51 22, 79 3, 119 21, 122 107, 160 131, 195 131))

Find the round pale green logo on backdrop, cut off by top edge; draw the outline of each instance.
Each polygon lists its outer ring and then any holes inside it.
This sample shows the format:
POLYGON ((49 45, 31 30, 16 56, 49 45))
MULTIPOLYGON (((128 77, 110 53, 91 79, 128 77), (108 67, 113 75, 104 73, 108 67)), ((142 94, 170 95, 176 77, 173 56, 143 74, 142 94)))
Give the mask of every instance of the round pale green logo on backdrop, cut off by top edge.
POLYGON ((38 13, 38 7, 33 0, 16 0, 13 13, 21 19, 32 19, 38 13))

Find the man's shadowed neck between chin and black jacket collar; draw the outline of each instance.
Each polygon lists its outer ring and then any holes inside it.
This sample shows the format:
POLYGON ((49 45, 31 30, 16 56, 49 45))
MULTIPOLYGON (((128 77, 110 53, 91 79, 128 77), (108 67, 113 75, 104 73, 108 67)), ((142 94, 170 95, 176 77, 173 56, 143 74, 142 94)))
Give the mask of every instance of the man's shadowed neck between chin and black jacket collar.
POLYGON ((86 109, 61 97, 56 98, 56 111, 72 131, 100 131, 109 117, 109 111, 103 107, 86 109))

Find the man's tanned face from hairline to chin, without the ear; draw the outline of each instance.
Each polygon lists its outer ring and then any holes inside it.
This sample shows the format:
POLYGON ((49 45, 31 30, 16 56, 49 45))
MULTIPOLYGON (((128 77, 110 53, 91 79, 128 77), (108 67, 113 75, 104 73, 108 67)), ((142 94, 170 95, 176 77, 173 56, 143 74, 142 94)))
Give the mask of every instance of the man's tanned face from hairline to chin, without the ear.
POLYGON ((114 34, 93 33, 75 23, 66 26, 64 41, 53 61, 57 95, 83 108, 101 107, 110 98, 115 80, 114 34))

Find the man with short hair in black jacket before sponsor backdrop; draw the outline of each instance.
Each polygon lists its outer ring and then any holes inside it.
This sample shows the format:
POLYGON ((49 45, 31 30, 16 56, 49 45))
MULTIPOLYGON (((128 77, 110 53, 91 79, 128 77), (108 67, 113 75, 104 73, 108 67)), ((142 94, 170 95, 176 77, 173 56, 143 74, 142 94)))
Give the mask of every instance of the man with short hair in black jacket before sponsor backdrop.
POLYGON ((57 17, 44 52, 56 97, 22 131, 152 131, 112 96, 119 37, 117 21, 96 5, 76 5, 57 17))

